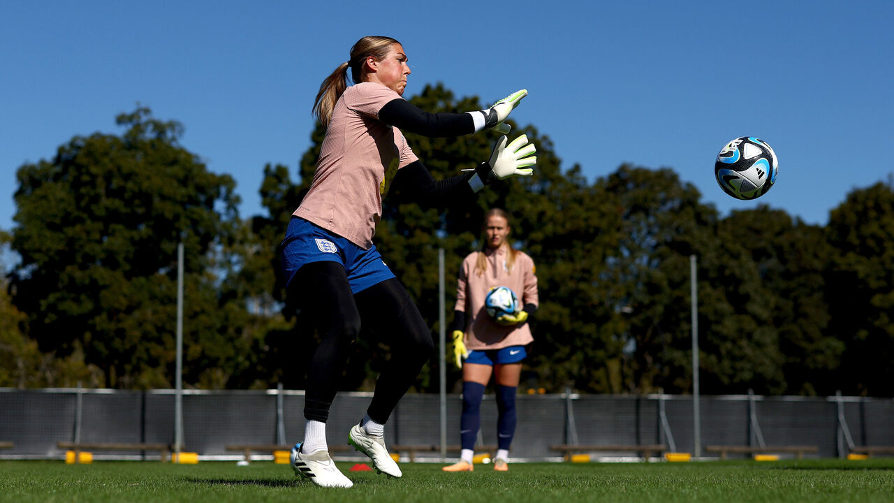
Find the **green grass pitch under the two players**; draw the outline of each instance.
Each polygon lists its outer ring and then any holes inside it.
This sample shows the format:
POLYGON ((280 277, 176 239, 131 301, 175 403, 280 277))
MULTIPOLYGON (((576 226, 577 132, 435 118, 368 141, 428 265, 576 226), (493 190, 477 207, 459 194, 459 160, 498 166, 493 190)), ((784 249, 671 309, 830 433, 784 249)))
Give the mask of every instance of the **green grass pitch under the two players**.
POLYGON ((349 490, 322 489, 289 465, 202 462, 0 462, 0 501, 894 501, 894 459, 693 463, 513 464, 509 473, 476 465, 443 473, 434 464, 401 464, 402 479, 349 472, 349 490))

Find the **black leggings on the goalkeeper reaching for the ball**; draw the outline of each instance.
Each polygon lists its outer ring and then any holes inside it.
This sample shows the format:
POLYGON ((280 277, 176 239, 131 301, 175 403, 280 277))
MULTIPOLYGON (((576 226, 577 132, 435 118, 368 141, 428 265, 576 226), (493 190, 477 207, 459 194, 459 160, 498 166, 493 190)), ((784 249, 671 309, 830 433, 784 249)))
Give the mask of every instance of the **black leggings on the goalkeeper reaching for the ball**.
POLYGON ((365 332, 378 333, 392 348, 367 409, 373 421, 387 422, 434 353, 431 330, 407 290, 392 278, 352 294, 342 264, 331 261, 302 266, 289 289, 322 339, 308 369, 304 417, 320 422, 329 419, 329 407, 362 326, 365 332))

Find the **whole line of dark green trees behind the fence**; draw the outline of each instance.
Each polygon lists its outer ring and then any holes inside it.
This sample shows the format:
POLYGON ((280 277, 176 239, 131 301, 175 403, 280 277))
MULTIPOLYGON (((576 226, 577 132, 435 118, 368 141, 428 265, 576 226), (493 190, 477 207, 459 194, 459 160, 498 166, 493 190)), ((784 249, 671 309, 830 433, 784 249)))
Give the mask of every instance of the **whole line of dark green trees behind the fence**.
MULTIPOLYGON (((411 102, 482 107, 441 85, 411 102)), ((317 339, 283 288, 277 247, 308 190, 322 127, 294 180, 287 166, 263 167, 266 214, 240 217, 232 177, 181 145, 182 124, 145 107, 116 123, 120 135, 74 136, 18 168, 15 226, 0 231, 21 258, 0 288, 0 387, 171 388, 182 242, 185 386, 303 388, 317 339)), ((589 181, 581 166, 561 166, 548 136, 513 126, 536 144, 535 176, 447 209, 409 194, 384 200, 376 246, 434 337, 438 249, 452 311, 460 262, 480 247, 485 211, 501 207, 540 286, 522 388, 691 390, 696 255, 703 393, 894 396, 892 183, 853 190, 826 226, 759 202, 721 217, 672 169, 625 164, 589 181)), ((495 139, 407 137, 437 179, 477 165, 495 139)), ((388 334, 361 335, 342 388, 371 389, 388 344, 388 334)), ((437 391, 437 365, 415 391, 437 391)), ((447 375, 456 389, 460 371, 447 375)))

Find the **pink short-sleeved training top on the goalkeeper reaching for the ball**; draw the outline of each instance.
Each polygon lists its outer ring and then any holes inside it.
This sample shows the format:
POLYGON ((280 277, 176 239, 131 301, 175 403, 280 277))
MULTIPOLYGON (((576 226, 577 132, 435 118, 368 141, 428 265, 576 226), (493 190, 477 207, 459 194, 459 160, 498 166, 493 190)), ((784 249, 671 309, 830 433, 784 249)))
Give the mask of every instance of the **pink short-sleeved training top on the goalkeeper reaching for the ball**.
POLYGON ((403 134, 379 120, 401 95, 375 82, 351 86, 335 103, 308 194, 292 214, 368 250, 382 198, 397 170, 418 160, 403 134))

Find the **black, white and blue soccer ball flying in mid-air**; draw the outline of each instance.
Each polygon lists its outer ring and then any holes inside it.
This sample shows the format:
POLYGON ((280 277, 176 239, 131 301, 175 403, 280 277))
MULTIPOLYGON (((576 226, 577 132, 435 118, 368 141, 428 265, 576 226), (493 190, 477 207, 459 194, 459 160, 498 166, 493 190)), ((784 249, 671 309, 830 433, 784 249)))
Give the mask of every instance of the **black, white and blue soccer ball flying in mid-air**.
POLYGON ((779 171, 776 152, 766 141, 754 136, 743 136, 727 143, 717 161, 714 176, 723 192, 741 199, 756 199, 767 193, 779 171))

